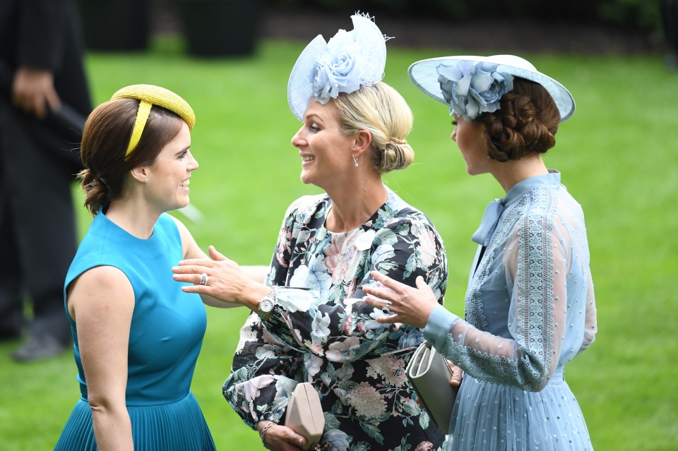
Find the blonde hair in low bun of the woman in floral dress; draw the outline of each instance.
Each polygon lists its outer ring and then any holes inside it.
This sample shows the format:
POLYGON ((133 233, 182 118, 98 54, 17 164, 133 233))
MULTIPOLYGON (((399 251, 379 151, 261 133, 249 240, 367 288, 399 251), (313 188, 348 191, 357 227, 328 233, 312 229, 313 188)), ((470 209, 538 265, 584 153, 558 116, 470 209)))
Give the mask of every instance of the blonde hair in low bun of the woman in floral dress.
POLYGON ((345 136, 367 130, 372 136, 372 165, 379 174, 405 169, 415 152, 405 140, 412 130, 412 110, 403 96, 386 83, 361 86, 334 100, 345 136))

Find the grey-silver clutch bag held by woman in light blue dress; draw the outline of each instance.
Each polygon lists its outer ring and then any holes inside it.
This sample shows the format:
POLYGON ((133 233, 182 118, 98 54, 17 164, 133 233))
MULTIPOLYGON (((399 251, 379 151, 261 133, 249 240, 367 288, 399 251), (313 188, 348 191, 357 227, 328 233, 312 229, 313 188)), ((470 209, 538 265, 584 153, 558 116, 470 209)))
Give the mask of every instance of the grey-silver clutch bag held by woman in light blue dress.
POLYGON ((423 342, 412 354, 405 374, 434 425, 449 434, 458 390, 450 385, 452 372, 446 359, 429 342, 423 342))

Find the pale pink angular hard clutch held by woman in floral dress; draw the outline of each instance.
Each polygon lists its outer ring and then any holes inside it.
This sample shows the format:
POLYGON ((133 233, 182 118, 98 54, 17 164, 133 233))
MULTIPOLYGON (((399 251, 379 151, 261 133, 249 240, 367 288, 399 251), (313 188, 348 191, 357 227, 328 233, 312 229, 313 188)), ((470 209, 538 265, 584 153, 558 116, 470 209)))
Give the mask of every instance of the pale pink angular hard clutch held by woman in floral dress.
POLYGON ((325 428, 325 416, 316 389, 308 382, 299 383, 292 392, 285 412, 285 426, 306 438, 304 451, 318 444, 325 428))

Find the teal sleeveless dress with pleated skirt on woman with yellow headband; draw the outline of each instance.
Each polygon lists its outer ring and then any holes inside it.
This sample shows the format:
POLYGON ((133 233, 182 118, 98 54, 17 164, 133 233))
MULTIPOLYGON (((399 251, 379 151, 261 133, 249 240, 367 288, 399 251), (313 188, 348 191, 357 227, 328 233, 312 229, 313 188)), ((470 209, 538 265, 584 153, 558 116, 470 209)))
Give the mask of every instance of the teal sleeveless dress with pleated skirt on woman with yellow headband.
MULTIPOLYGON (((136 451, 215 450, 190 389, 207 316, 200 296, 184 293, 182 284, 172 279, 171 268, 182 256, 179 230, 169 215, 160 216, 153 236, 138 239, 100 210, 66 275, 64 303, 69 284, 95 266, 117 267, 131 282, 135 305, 129 332, 126 404, 136 451)), ((82 397, 55 450, 97 450, 76 322, 68 308, 66 315, 71 322, 82 397)))

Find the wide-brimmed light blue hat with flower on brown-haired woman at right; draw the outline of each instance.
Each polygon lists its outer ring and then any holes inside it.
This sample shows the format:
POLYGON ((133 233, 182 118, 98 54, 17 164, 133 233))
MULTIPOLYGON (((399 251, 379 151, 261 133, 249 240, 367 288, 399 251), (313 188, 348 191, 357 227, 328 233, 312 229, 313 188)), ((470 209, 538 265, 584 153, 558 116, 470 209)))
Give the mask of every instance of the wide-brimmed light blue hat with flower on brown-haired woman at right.
POLYGON ((499 99, 513 90, 513 78, 525 78, 542 85, 553 97, 560 121, 574 114, 574 99, 561 83, 537 71, 530 61, 514 55, 444 56, 424 59, 410 66, 412 83, 438 102, 450 107, 450 114, 475 119, 499 109, 499 99))

